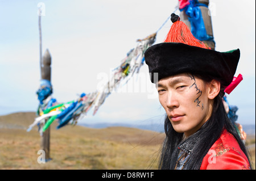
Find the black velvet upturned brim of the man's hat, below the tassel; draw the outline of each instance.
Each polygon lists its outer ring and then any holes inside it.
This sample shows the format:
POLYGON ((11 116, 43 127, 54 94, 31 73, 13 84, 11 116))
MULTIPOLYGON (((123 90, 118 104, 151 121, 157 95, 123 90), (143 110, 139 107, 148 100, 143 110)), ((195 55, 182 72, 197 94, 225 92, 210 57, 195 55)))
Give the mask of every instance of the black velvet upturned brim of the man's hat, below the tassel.
POLYGON ((148 48, 144 58, 152 83, 171 75, 191 73, 208 74, 221 80, 222 86, 228 86, 236 73, 240 50, 217 52, 183 43, 159 43, 148 48), (154 73, 158 73, 155 80, 154 73))

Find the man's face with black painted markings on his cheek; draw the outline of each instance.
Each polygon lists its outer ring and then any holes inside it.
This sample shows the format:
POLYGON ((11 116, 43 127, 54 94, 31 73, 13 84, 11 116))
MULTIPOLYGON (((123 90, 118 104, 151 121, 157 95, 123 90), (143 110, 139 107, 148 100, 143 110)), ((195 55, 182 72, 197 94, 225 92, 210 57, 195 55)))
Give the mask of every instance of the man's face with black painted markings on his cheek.
POLYGON ((209 83, 183 73, 163 78, 156 85, 159 101, 176 132, 190 136, 211 116, 209 83))

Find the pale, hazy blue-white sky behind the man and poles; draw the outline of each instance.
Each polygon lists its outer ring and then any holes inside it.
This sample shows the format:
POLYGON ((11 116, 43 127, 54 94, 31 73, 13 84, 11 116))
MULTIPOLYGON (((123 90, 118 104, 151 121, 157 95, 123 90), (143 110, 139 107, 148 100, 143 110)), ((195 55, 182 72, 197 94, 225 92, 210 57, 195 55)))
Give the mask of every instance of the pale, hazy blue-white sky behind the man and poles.
MULTIPOLYGON (((51 82, 57 102, 97 90, 137 39, 156 32, 175 10, 177 0, 0 0, 0 115, 36 111, 39 88, 38 6, 43 5, 42 51, 52 57, 51 82)), ((243 81, 227 95, 238 107, 237 122, 255 124, 255 1, 212 0, 209 4, 216 50, 239 48, 235 76, 243 81)), ((177 10, 176 14, 179 15, 177 10)), ((171 21, 158 32, 161 43, 171 21)), ((150 82, 148 66, 106 98, 96 115, 81 123, 163 123, 164 110, 150 82), (146 89, 145 89, 146 87, 146 89)))

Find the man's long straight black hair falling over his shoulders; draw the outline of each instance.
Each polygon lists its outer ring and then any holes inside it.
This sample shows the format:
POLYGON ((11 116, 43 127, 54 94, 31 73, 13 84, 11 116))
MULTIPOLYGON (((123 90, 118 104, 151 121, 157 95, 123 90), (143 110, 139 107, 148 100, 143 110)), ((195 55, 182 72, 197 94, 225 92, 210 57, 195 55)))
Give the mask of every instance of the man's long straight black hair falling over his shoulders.
MULTIPOLYGON (((194 74, 195 75, 195 74, 194 74)), ((213 78, 208 76, 195 75, 195 77, 201 78, 206 82, 211 81, 213 78)), ((221 82, 221 79, 218 81, 221 82)), ((204 127, 200 129, 200 140, 195 145, 192 153, 190 154, 189 161, 187 164, 187 169, 189 170, 199 170, 203 158, 208 153, 209 149, 212 147, 214 142, 220 138, 224 128, 238 141, 241 150, 245 153, 249 160, 249 152, 246 149, 245 144, 243 144, 241 137, 237 133, 236 128, 229 120, 224 105, 222 103, 222 97, 224 96, 224 87, 221 86, 220 93, 214 98, 213 111, 210 119, 204 124, 204 127)), ((178 145, 183 140, 184 134, 178 133, 172 127, 171 121, 166 116, 164 121, 164 131, 166 133, 166 138, 163 142, 162 153, 159 159, 159 169, 175 169, 177 157, 179 154, 178 145)), ((194 133, 195 134, 195 133, 194 133)), ((192 135, 193 136, 193 135, 192 135)), ((251 163, 250 163, 251 167, 251 163)))

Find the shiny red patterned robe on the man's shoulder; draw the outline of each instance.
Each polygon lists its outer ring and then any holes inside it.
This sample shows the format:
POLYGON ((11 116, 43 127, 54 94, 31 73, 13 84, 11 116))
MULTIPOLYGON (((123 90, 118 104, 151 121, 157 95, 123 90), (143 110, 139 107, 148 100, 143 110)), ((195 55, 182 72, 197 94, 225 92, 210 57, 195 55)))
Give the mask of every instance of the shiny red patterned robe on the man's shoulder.
POLYGON ((250 170, 250 164, 237 140, 225 129, 205 155, 200 170, 250 170))

